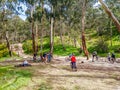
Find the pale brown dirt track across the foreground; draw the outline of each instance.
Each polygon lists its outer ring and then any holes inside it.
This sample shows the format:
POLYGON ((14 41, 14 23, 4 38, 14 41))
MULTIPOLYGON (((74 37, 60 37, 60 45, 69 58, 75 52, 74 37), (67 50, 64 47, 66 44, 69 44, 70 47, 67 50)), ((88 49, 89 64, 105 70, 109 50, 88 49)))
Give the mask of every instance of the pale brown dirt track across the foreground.
MULTIPOLYGON (((47 64, 30 59, 28 61, 32 65, 29 68, 34 70, 33 77, 30 84, 20 90, 38 90, 42 82, 52 87, 46 90, 120 90, 120 63, 111 64, 104 59, 92 62, 78 57, 78 70, 74 72, 65 57, 54 57, 47 64)), ((22 62, 23 60, 4 61, 0 65, 14 66, 22 62)))

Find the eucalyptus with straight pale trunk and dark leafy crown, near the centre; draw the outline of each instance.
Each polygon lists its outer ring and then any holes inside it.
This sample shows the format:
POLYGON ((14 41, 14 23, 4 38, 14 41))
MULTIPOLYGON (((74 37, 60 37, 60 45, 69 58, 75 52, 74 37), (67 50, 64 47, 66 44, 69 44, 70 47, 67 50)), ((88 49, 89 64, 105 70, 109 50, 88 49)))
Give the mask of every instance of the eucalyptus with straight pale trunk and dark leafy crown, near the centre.
MULTIPOLYGON (((61 21, 62 14, 66 10, 65 3, 69 0, 48 0, 48 5, 50 6, 49 17, 50 17, 50 52, 53 53, 54 46, 54 29, 55 21, 61 21)), ((62 33, 61 33, 62 34, 62 33)))

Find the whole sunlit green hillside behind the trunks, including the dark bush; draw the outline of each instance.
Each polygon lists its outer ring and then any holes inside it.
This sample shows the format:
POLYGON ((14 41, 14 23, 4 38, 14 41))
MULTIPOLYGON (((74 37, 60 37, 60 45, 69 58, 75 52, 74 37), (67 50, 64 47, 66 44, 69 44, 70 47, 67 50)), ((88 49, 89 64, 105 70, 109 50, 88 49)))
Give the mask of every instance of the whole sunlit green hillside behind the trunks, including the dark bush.
MULTIPOLYGON (((112 38, 109 38, 106 35, 98 36, 96 32, 89 31, 86 34, 86 44, 90 54, 93 51, 97 51, 100 56, 107 56, 107 53, 115 53, 117 57, 120 57, 120 36, 116 35, 112 38)), ((55 55, 69 55, 70 53, 75 53, 77 56, 84 56, 81 49, 81 39, 76 38, 76 42, 74 39, 63 36, 63 43, 61 43, 60 37, 54 37, 54 54, 55 55)), ((43 51, 42 53, 46 53, 50 51, 50 39, 49 37, 43 38, 43 51)), ((40 40, 38 41, 38 54, 40 51, 40 40)), ((28 40, 23 43, 23 49, 25 53, 32 53, 32 41, 28 40)))

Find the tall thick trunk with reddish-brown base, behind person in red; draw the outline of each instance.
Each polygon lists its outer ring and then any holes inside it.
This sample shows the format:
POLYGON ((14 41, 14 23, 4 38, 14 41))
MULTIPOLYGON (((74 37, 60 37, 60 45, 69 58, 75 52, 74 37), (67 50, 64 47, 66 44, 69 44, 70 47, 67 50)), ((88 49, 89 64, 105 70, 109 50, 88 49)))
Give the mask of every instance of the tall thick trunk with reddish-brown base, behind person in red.
POLYGON ((83 7, 82 7, 82 48, 83 48, 84 54, 88 60, 89 52, 87 50, 85 33, 84 33, 85 32, 85 12, 86 12, 86 0, 83 2, 83 7))

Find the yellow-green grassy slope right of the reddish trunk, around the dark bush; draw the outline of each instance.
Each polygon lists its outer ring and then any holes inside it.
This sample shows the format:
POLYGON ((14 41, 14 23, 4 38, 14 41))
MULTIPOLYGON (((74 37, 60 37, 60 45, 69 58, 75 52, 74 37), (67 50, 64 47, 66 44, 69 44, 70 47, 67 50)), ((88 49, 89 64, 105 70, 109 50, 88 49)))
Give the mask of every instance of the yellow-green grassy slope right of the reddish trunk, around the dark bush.
MULTIPOLYGON (((120 35, 116 35, 112 37, 112 45, 110 36, 102 36, 104 41, 108 44, 108 52, 114 52, 117 57, 120 57, 120 53, 117 52, 118 48, 120 48, 120 35)), ((87 31, 86 33, 86 41, 87 47, 90 53, 92 53, 93 47, 96 46, 96 43, 101 40, 100 36, 97 36, 95 31, 87 31), (92 47, 92 48, 91 48, 92 47)), ((98 52, 99 53, 99 52, 98 52)), ((99 53, 100 56, 107 56, 107 53, 99 53)))

